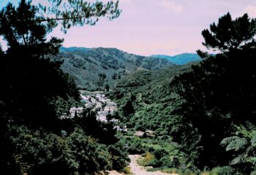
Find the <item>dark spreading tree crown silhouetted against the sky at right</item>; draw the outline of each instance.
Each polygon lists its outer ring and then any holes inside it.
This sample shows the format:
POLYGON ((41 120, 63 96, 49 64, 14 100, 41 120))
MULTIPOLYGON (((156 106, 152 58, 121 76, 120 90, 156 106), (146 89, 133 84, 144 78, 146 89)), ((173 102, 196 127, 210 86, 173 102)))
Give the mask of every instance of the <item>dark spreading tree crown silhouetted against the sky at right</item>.
POLYGON ((250 19, 247 14, 232 20, 230 13, 219 18, 216 25, 210 25, 210 31, 202 31, 208 49, 227 52, 242 49, 244 46, 255 43, 256 19, 250 19))

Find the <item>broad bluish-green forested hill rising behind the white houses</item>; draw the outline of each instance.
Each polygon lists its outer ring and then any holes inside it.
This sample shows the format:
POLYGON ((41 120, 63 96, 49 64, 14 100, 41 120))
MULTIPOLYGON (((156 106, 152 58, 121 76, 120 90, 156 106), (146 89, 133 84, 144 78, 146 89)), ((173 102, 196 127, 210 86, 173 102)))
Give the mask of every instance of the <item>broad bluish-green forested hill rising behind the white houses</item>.
POLYGON ((105 74, 105 83, 120 79, 137 70, 157 70, 174 66, 164 58, 129 54, 116 48, 61 47, 55 58, 64 61, 61 66, 75 79, 80 88, 94 88, 99 74, 105 74))

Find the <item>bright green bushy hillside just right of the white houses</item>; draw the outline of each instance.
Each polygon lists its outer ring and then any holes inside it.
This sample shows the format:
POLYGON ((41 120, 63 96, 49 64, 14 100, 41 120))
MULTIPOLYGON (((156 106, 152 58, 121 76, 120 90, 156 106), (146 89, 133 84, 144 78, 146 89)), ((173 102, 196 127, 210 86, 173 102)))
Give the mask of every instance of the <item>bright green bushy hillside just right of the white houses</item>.
POLYGON ((119 79, 109 96, 116 98, 124 123, 135 130, 159 128, 157 120, 170 117, 170 109, 176 101, 175 93, 170 90, 170 82, 178 74, 192 71, 191 66, 197 64, 195 62, 154 71, 140 70, 119 79), (127 101, 132 101, 133 112, 130 115, 124 114, 123 110, 127 108, 127 101))

